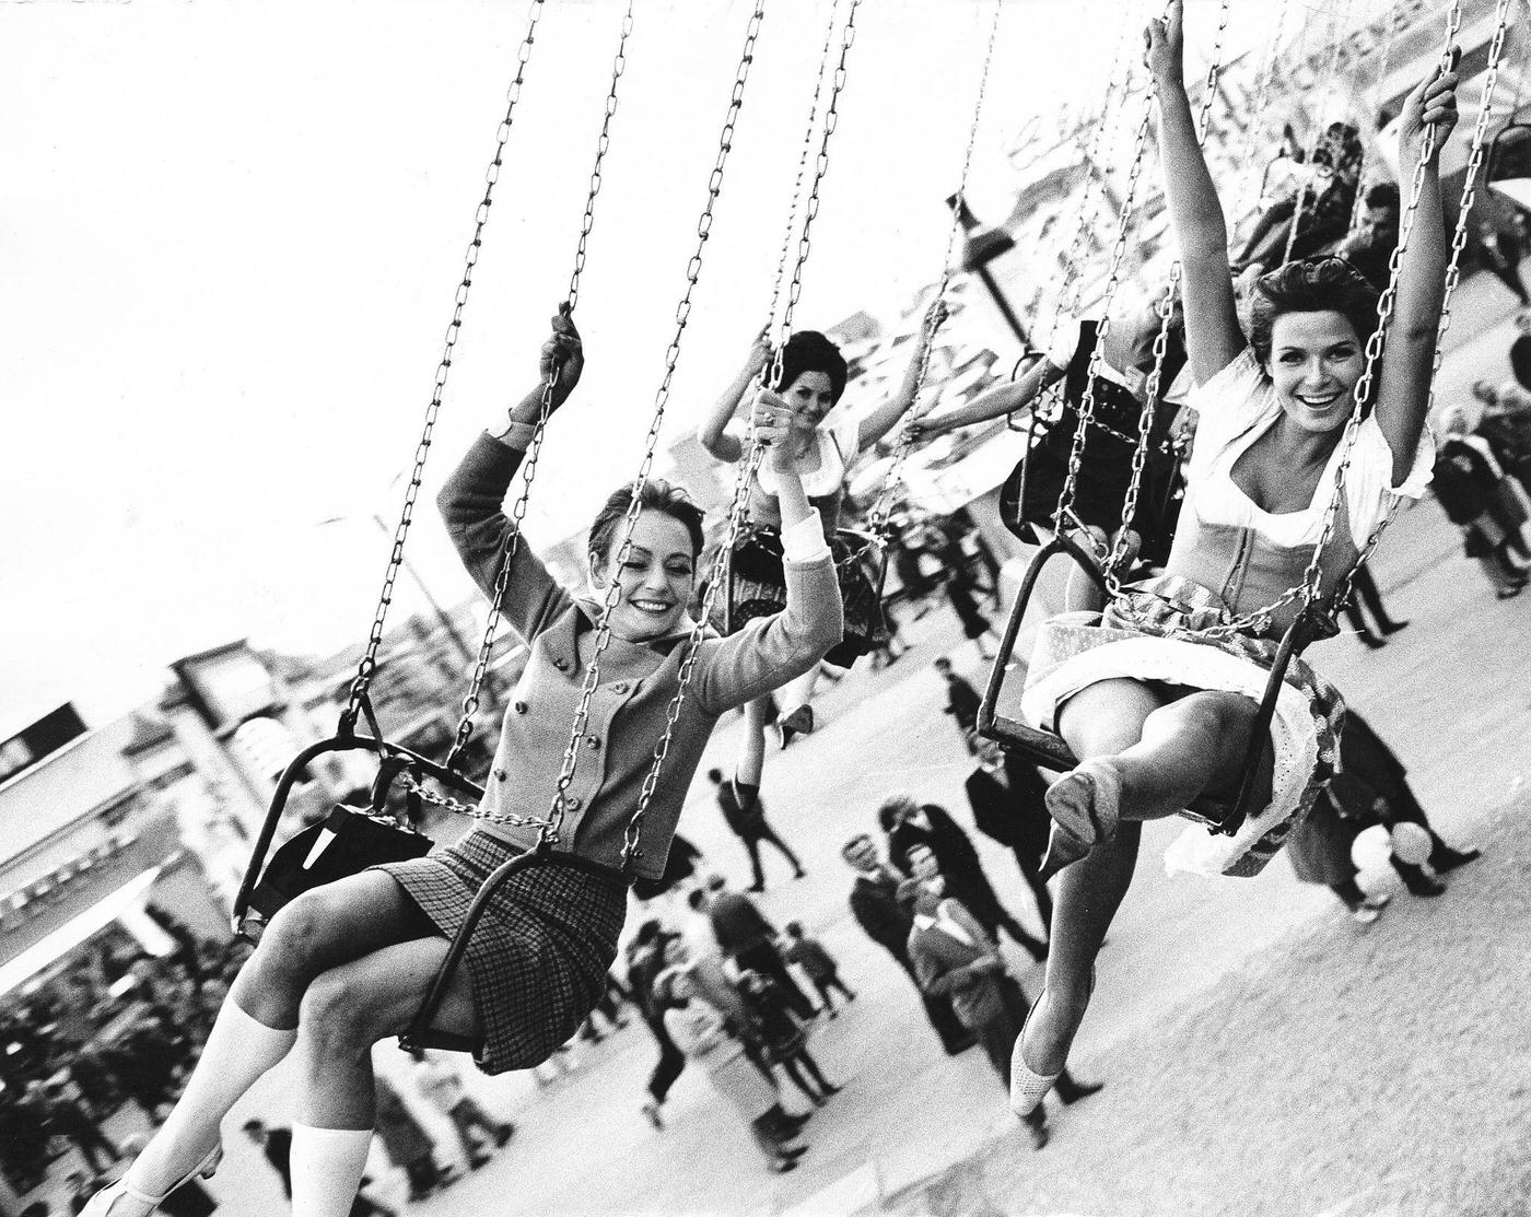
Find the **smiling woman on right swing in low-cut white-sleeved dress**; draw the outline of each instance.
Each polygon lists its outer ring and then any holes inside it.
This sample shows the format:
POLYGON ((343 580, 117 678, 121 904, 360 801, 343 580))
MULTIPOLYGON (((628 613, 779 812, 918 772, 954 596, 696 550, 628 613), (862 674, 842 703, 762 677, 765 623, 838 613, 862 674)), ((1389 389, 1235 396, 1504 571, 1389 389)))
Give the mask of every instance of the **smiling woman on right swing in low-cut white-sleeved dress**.
MULTIPOLYGON (((1234 311, 1228 230, 1182 75, 1182 3, 1148 28, 1170 214, 1185 265, 1185 334, 1199 383, 1196 452, 1167 573, 1105 615, 1055 618, 1038 637, 1023 697, 1079 765, 1047 791, 1059 876, 1047 983, 1017 1041, 1010 1105, 1030 1111, 1064 1067, 1084 1018, 1095 957, 1131 883, 1142 822, 1197 799, 1231 799, 1277 638, 1194 632, 1265 609, 1300 586, 1324 531, 1341 436, 1376 328, 1376 297, 1340 259, 1289 263, 1258 282, 1246 341, 1234 311)), ((1456 124, 1456 75, 1431 72, 1404 107, 1401 164, 1418 164, 1427 130, 1439 152, 1456 124)), ((1344 475, 1321 589, 1334 589, 1396 496, 1428 479, 1424 438, 1445 271, 1436 158, 1424 173, 1373 409, 1344 475)), ((1334 767, 1341 703, 1295 661, 1258 773, 1260 801, 1234 837, 1194 827, 1187 863, 1252 874, 1280 848, 1334 767)))

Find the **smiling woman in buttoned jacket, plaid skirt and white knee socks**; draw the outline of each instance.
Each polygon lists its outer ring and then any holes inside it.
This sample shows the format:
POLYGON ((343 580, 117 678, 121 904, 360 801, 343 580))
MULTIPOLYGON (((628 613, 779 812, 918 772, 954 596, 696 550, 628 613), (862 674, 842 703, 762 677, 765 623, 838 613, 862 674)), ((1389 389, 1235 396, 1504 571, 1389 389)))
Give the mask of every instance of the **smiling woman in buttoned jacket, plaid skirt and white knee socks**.
MULTIPOLYGON (((583 367, 573 321, 559 315, 542 347, 539 381, 557 370, 560 406, 583 367)), ((510 528, 501 510, 522 461, 542 386, 510 410, 510 426, 482 435, 439 496, 464 565, 493 592, 510 528)), ((758 403, 755 426, 779 467, 787 603, 730 638, 701 643, 695 670, 641 825, 635 871, 663 873, 692 772, 718 716, 813 666, 841 638, 834 566, 818 516, 782 442, 790 421, 758 403)), ((623 487, 596 517, 589 591, 559 586, 522 543, 505 580, 504 615, 531 657, 501 732, 479 824, 459 843, 305 892, 266 928, 219 1012, 175 1111, 118 1183, 90 1202, 90 1217, 141 1217, 179 1182, 210 1166, 230 1107, 295 1044, 302 1091, 292 1128, 292 1200, 300 1217, 344 1217, 372 1139, 372 1044, 403 1032, 444 958, 484 877, 530 850, 537 828, 510 817, 548 814, 596 654, 600 603, 615 583, 611 640, 579 767, 562 801, 551 859, 501 886, 478 926, 436 1018, 475 1041, 488 1073, 528 1069, 579 1029, 606 986, 626 909, 623 833, 638 804, 680 666, 701 550, 701 511, 651 481, 632 545, 619 545, 631 502, 623 487), (620 562, 619 562, 620 559, 620 562)))

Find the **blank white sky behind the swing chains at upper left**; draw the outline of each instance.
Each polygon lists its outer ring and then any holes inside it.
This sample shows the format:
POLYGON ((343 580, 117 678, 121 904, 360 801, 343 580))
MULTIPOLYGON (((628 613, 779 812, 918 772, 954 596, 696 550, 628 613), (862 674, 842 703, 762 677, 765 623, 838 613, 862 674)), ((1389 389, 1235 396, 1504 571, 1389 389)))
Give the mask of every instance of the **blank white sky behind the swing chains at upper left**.
MULTIPOLYGON (((844 9, 845 0, 842 0, 844 9)), ((637 0, 533 537, 635 470, 717 155, 744 0, 637 0)), ((1234 0, 1234 43, 1272 6, 1234 0)), ((1104 92, 1122 0, 1006 0, 971 181, 1104 92)), ((766 320, 827 0, 767 0, 664 441, 766 320)), ((865 0, 799 326, 893 317, 946 248, 989 3, 865 0)), ((90 721, 165 663, 250 637, 361 640, 372 513, 415 449, 525 0, 0 3, 0 733, 90 721), (338 520, 337 520, 338 517, 338 520), (323 524, 325 520, 337 520, 323 524)), ((622 6, 548 0, 410 553, 468 594, 429 501, 534 375, 573 262, 622 6)), ((1191 5, 1209 43, 1216 3, 1191 5)), ((413 602, 406 594, 397 612, 413 602)))

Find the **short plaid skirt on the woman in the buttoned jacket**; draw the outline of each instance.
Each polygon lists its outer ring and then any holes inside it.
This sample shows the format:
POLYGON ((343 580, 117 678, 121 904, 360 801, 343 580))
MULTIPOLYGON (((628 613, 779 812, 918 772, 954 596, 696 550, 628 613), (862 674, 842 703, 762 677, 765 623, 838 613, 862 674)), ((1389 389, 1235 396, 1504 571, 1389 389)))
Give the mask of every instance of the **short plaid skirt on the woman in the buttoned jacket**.
MULTIPOLYGON (((447 938, 501 862, 517 850, 488 833, 387 871, 447 938)), ((622 879, 537 862, 507 879, 462 957, 484 1039, 473 1059, 485 1073, 531 1069, 574 1032, 606 992, 606 969, 628 911, 622 879)))

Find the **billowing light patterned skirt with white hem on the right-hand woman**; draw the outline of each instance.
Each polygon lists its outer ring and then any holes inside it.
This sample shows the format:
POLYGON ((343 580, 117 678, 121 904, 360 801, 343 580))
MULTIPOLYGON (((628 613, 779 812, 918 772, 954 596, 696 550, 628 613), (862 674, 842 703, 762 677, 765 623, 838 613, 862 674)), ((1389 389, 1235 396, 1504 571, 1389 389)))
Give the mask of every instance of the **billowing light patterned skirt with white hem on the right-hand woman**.
MULTIPOLYGON (((1102 680, 1130 678, 1191 689, 1219 689, 1260 701, 1275 661, 1271 638, 1234 634, 1205 638, 1187 631, 1229 620, 1217 597, 1179 576, 1157 576, 1128 588, 1105 614, 1066 612, 1043 625, 1026 675, 1021 713, 1056 730, 1064 703, 1102 680)), ((1255 876, 1303 822, 1318 791, 1335 775, 1344 700, 1340 690, 1294 657, 1286 669, 1271 746, 1275 756, 1271 802, 1231 837, 1193 827, 1165 854, 1171 871, 1255 876)))

